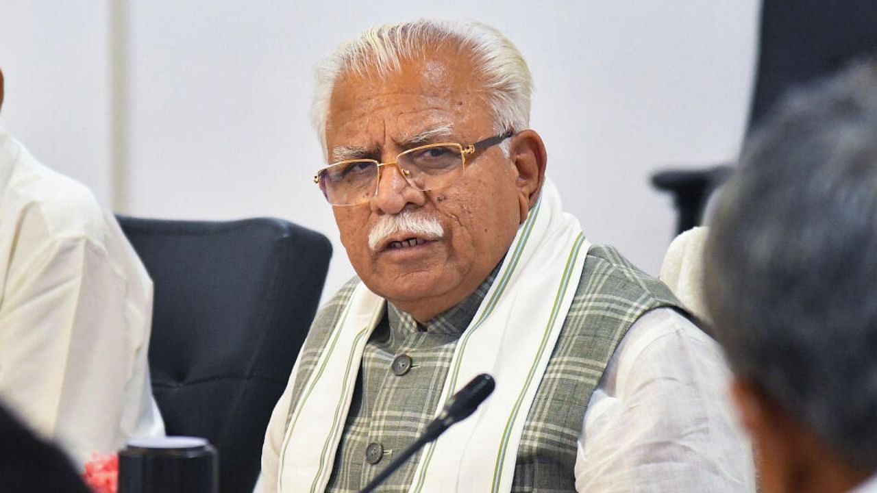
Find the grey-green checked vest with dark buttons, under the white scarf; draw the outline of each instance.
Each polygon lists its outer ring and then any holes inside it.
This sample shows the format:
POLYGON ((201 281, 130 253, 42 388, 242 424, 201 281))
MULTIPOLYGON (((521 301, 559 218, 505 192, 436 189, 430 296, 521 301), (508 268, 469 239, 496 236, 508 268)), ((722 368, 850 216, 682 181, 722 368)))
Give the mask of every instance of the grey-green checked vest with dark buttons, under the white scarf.
MULTIPOLYGON (((339 313, 359 282, 342 287, 317 314, 300 354, 290 410, 316 366, 339 313)), ((424 327, 388 304, 363 353, 327 491, 355 493, 412 443, 439 404, 460 332, 493 282, 424 327)), ((680 304, 662 282, 612 247, 591 247, 517 450, 513 492, 574 492, 576 441, 591 393, 628 328, 646 311, 680 304)), ((288 423, 289 425, 289 418, 288 423)), ((408 491, 415 455, 381 491, 408 491)))

